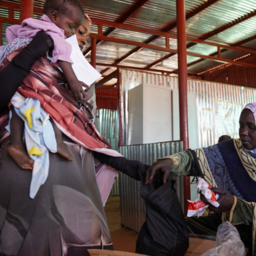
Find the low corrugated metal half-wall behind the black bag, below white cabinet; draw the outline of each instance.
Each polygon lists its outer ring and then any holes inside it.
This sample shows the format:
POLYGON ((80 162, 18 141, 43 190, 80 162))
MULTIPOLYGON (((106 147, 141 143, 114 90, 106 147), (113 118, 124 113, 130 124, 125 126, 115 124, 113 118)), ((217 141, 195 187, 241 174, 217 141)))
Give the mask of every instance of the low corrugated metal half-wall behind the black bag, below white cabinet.
MULTIPOLYGON (((170 141, 158 144, 120 146, 120 154, 127 159, 138 160, 151 165, 156 158, 182 151, 182 141, 170 141)), ((175 177, 178 198, 183 208, 183 177, 175 177)), ((139 231, 144 224, 146 207, 140 195, 140 182, 120 173, 120 211, 121 224, 139 231)))

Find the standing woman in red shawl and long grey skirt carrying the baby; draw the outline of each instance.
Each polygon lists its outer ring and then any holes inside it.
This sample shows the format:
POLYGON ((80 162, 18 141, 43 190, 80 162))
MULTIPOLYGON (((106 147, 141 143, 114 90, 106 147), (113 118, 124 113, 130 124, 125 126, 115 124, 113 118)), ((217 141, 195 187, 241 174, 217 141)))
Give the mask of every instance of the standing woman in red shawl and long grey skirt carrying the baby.
MULTIPOLYGON (((76 31, 81 48, 87 43, 89 33, 86 17, 76 31)), ((50 48, 49 38, 43 35, 43 50, 32 47, 37 45, 35 38, 27 47, 10 53, 0 66, 0 254, 70 256, 89 255, 88 249, 112 250, 103 204, 115 180, 115 169, 129 170, 136 177, 141 165, 114 157, 121 155, 111 149, 93 124, 94 86, 77 102, 61 71, 50 65, 48 58, 41 58, 50 48), (25 58, 26 54, 32 56, 30 61, 25 58), (14 72, 19 76, 14 77, 14 72), (7 78, 6 74, 9 74, 7 78), (12 87, 3 88, 4 79, 8 83, 11 80, 12 87), (16 91, 40 100, 45 112, 64 133, 64 143, 74 159, 71 162, 50 153, 48 177, 34 199, 29 196, 32 173, 21 169, 7 151, 10 136, 5 127, 9 111, 4 107, 16 91), (99 163, 95 171, 94 151, 100 152, 99 158, 102 153, 110 155, 109 164, 115 169, 99 163)))

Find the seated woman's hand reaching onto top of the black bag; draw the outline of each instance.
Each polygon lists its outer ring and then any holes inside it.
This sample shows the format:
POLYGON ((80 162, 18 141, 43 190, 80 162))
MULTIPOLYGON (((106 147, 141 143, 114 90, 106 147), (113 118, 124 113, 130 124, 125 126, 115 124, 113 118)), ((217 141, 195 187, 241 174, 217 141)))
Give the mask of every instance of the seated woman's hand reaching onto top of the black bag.
POLYGON ((164 172, 164 183, 167 181, 168 176, 171 174, 173 162, 172 159, 164 159, 154 164, 146 170, 146 184, 152 184, 153 177, 158 172, 164 172))

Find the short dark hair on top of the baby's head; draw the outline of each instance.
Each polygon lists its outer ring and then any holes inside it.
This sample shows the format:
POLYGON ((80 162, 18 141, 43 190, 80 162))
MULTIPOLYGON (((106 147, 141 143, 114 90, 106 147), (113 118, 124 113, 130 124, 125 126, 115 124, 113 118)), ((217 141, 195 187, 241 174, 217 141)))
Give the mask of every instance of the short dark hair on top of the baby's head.
POLYGON ((78 7, 84 13, 83 6, 79 0, 46 0, 43 6, 43 13, 48 15, 50 12, 56 11, 58 14, 66 14, 71 5, 78 7))

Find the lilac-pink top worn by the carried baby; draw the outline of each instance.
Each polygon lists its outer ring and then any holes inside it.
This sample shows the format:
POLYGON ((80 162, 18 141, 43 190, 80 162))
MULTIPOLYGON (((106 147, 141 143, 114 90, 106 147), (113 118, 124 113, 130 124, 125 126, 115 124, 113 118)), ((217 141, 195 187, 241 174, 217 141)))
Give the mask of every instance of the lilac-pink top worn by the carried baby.
POLYGON ((53 39, 54 49, 51 64, 57 67, 57 61, 66 61, 73 64, 70 58, 71 45, 65 41, 66 36, 64 35, 64 30, 61 30, 60 27, 57 27, 51 22, 50 18, 45 14, 43 14, 42 20, 29 18, 25 19, 22 25, 7 27, 6 40, 10 43, 17 37, 32 38, 40 30, 45 31, 53 39))

